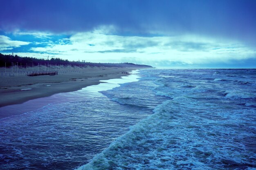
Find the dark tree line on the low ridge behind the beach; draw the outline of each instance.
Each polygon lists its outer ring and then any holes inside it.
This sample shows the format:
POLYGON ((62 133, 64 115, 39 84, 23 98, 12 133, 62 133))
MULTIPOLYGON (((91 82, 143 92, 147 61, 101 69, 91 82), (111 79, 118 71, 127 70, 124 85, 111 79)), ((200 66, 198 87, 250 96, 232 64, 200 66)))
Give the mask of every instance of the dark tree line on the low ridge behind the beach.
POLYGON ((38 59, 36 57, 20 57, 18 55, 5 55, 0 53, 0 67, 4 67, 5 64, 7 67, 12 66, 12 63, 17 63, 18 65, 24 66, 35 66, 40 65, 71 65, 71 66, 91 66, 91 67, 152 67, 142 64, 133 64, 133 63, 92 63, 92 62, 80 62, 80 61, 69 61, 63 60, 61 58, 51 58, 51 60, 38 59))

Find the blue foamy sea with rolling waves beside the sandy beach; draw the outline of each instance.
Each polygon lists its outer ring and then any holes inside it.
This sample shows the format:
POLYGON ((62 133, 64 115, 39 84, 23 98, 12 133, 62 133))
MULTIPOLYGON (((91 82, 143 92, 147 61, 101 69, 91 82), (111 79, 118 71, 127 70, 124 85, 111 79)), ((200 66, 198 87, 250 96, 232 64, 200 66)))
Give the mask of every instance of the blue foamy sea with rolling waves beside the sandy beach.
POLYGON ((1 170, 256 170, 256 69, 141 69, 47 101, 0 119, 1 170))

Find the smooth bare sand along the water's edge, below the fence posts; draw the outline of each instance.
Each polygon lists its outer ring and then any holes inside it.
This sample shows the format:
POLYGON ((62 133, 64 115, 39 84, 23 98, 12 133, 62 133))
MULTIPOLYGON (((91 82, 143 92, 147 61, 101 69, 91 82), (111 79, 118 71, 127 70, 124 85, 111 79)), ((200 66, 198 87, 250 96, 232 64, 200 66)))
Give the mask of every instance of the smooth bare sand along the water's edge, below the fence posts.
MULTIPOLYGON (((91 70, 95 70, 97 68, 91 68, 91 70)), ((141 68, 105 68, 102 70, 97 70, 94 73, 88 72, 84 75, 79 74, 70 74, 64 75, 64 77, 68 79, 63 79, 63 82, 54 82, 58 77, 56 76, 36 76, 29 77, 30 79, 36 78, 38 83, 31 83, 20 85, 20 83, 16 83, 16 86, 5 87, 0 86, 0 108, 4 106, 11 106, 15 104, 22 104, 32 99, 38 99, 42 97, 49 97, 57 93, 67 93, 72 91, 78 91, 81 88, 97 85, 101 82, 100 80, 106 79, 114 79, 120 78, 122 76, 126 76, 129 74, 122 74, 122 72, 130 72, 132 70, 137 70, 141 68), (104 75, 102 75, 104 74, 104 75), (73 78, 71 78, 73 77, 73 78), (22 90, 24 89, 24 90, 22 90)), ((89 70, 88 70, 89 71, 89 70)), ((27 76, 28 77, 28 76, 27 76)), ((27 78, 22 76, 16 76, 16 79, 27 78)), ((2 77, 1 77, 2 78, 2 77)), ((9 78, 9 77, 7 77, 9 78)), ((21 82, 21 80, 17 81, 21 82)))

